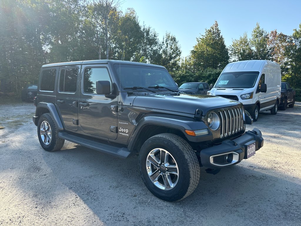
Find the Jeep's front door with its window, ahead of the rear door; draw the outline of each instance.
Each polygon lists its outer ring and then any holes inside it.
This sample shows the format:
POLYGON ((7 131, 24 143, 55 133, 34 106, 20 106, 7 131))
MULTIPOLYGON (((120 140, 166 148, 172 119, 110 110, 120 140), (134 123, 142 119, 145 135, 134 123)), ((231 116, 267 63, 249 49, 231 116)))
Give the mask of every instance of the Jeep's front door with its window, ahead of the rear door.
POLYGON ((113 80, 106 65, 83 65, 79 93, 79 125, 83 132, 115 140, 117 133, 118 96, 113 99, 96 93, 96 81, 113 80), (116 131, 117 132, 117 131, 116 131))

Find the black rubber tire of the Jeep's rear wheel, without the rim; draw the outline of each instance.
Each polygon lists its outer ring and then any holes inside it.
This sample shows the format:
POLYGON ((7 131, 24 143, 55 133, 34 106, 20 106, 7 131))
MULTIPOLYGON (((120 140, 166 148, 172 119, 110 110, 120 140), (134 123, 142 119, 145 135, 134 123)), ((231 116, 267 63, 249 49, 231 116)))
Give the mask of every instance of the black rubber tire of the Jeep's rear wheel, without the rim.
POLYGON ((48 152, 60 150, 63 147, 64 142, 65 142, 64 139, 61 139, 58 137, 57 126, 50 113, 45 113, 39 118, 38 137, 39 137, 39 142, 40 142, 42 148, 48 152), (51 140, 48 145, 43 142, 42 137, 41 137, 41 124, 43 121, 46 121, 51 128, 51 140))

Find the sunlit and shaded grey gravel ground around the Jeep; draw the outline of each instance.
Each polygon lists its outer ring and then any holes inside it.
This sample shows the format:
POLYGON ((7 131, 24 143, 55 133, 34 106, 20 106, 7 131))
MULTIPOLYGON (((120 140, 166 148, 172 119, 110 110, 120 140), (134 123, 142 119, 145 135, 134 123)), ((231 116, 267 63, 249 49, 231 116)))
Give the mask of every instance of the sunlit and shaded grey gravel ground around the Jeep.
POLYGON ((0 105, 0 225, 300 225, 301 103, 262 113, 256 155, 216 175, 201 168, 194 193, 165 202, 144 186, 138 158, 74 143, 46 152, 33 104, 0 105))

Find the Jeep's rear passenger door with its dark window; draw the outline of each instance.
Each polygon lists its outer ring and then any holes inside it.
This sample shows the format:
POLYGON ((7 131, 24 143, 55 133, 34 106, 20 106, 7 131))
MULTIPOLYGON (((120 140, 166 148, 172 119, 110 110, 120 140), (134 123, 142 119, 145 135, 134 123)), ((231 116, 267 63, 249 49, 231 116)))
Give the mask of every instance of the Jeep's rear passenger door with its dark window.
POLYGON ((79 87, 78 66, 60 67, 55 104, 67 130, 78 129, 77 102, 79 87))

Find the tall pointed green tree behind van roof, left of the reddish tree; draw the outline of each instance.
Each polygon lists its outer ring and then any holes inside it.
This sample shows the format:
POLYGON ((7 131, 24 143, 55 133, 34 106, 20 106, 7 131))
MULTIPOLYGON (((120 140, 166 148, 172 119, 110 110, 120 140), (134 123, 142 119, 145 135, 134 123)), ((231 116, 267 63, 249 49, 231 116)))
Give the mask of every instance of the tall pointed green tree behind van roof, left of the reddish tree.
POLYGON ((257 60, 268 60, 269 49, 268 49, 268 33, 261 29, 259 23, 256 23, 252 31, 252 38, 250 40, 251 45, 254 47, 254 59, 257 60))

